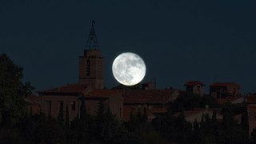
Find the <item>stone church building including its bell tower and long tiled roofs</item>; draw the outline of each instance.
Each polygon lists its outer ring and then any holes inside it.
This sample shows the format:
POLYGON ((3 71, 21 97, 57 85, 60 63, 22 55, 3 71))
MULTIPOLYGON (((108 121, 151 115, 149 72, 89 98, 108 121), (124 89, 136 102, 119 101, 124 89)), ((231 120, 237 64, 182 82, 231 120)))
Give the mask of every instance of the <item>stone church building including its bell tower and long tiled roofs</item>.
POLYGON ((144 109, 151 120, 156 114, 165 113, 166 103, 174 101, 180 94, 180 90, 152 90, 153 83, 145 85, 145 89, 148 90, 103 89, 103 58, 98 49, 94 22, 90 29, 86 50, 79 57, 78 75, 77 83, 38 91, 42 112, 57 118, 60 110, 65 112, 67 108, 72 120, 80 116, 83 97, 86 102, 86 111, 92 115, 98 110, 98 102, 103 100, 105 108, 109 108, 122 121, 129 120, 131 112, 136 114, 144 109))

